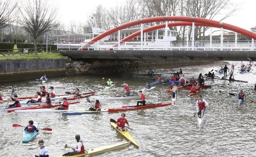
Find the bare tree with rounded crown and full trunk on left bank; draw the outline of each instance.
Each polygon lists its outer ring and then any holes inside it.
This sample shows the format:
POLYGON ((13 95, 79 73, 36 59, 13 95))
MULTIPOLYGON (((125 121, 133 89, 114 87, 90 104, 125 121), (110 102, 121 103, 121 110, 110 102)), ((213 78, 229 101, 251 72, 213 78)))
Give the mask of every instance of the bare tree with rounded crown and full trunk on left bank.
POLYGON ((20 9, 20 23, 34 38, 34 49, 37 53, 37 38, 57 28, 57 8, 49 5, 47 0, 26 0, 20 9))

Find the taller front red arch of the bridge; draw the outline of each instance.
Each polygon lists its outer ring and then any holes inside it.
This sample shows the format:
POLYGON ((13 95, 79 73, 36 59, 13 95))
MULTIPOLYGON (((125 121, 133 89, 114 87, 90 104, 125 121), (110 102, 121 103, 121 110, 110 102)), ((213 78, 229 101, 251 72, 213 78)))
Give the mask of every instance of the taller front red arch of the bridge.
POLYGON ((118 30, 126 29, 128 27, 132 27, 132 26, 135 26, 135 25, 138 25, 138 24, 144 24, 144 23, 149 23, 149 22, 165 22, 165 21, 195 22, 195 23, 201 23, 201 24, 208 24, 209 27, 219 26, 220 28, 223 27, 227 30, 235 31, 235 32, 240 33, 242 35, 253 38, 254 40, 256 39, 256 33, 253 33, 251 31, 247 31, 245 29, 242 29, 240 27, 236 27, 236 26, 231 25, 231 24, 226 24, 224 22, 209 20, 209 19, 205 19, 205 18, 188 17, 188 16, 157 16, 157 17, 143 18, 143 19, 140 19, 140 20, 134 20, 134 21, 126 22, 124 24, 119 25, 118 27, 114 27, 112 29, 109 29, 109 30, 101 33, 100 35, 96 36, 92 40, 90 40, 89 43, 83 45, 78 50, 82 50, 85 47, 87 47, 88 44, 93 44, 94 42, 97 42, 98 40, 101 40, 102 38, 105 38, 107 35, 115 33, 118 30))

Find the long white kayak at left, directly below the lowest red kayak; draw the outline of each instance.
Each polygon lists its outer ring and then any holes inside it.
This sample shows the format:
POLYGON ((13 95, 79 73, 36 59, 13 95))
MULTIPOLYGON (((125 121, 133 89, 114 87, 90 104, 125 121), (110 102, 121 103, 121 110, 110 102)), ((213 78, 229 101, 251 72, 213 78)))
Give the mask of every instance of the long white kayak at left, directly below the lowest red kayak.
POLYGON ((70 108, 68 110, 54 110, 53 108, 42 108, 32 110, 15 110, 15 113, 62 113, 62 112, 82 112, 88 110, 88 108, 70 108))

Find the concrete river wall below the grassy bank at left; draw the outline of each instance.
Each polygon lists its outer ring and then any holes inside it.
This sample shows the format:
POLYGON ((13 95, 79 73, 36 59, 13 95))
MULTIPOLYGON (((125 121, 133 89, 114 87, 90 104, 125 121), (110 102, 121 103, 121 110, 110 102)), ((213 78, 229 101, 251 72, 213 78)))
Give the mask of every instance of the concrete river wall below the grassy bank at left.
POLYGON ((0 60, 0 83, 63 76, 66 71, 66 60, 34 59, 34 60, 0 60))

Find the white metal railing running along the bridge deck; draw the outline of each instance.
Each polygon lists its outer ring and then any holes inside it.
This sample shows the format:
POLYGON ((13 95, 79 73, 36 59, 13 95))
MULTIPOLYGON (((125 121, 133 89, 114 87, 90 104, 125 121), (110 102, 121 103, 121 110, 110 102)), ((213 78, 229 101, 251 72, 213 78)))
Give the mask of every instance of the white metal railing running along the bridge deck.
MULTIPOLYGON (((85 42, 55 42, 57 49, 79 49, 85 42)), ((172 42, 95 42, 87 44, 91 50, 203 50, 203 51, 254 51, 253 40, 249 41, 172 41, 172 42)))

